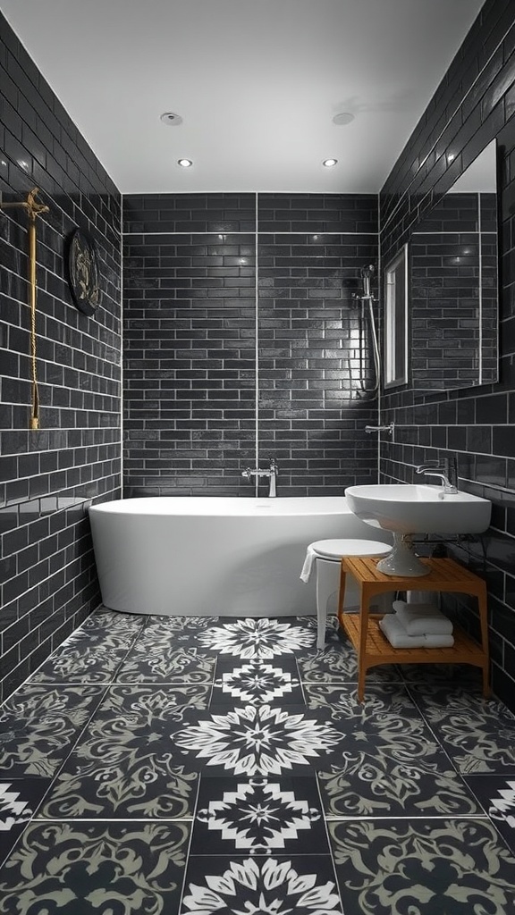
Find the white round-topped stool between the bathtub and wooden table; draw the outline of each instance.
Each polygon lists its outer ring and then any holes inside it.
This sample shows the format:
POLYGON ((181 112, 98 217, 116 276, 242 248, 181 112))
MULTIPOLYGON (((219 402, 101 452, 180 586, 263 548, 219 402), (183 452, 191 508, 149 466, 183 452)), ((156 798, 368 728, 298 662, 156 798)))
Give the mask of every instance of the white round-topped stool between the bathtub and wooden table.
MULTIPOLYGON (((316 562, 316 647, 325 644, 325 619, 329 598, 340 587, 340 560, 342 556, 384 556, 391 546, 378 540, 316 540, 308 546, 316 562)), ((354 580, 349 576, 345 587, 345 609, 359 607, 359 595, 354 580)))

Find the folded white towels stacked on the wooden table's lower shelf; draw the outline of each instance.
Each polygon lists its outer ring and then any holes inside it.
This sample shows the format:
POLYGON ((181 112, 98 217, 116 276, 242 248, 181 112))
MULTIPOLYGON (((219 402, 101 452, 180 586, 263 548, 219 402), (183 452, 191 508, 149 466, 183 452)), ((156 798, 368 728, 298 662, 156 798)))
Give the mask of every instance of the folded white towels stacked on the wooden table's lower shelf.
POLYGON ((394 600, 394 612, 379 620, 390 645, 393 648, 451 648, 455 643, 453 624, 439 610, 433 595, 408 591, 406 598, 394 600))

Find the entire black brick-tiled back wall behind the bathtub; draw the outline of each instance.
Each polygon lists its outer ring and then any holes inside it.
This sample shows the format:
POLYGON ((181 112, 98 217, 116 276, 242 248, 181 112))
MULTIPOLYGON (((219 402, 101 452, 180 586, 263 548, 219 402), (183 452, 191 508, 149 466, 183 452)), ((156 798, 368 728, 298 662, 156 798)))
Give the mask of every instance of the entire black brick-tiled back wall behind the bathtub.
POLYGON ((272 457, 283 496, 375 479, 377 260, 373 195, 124 198, 126 496, 252 495, 272 457))

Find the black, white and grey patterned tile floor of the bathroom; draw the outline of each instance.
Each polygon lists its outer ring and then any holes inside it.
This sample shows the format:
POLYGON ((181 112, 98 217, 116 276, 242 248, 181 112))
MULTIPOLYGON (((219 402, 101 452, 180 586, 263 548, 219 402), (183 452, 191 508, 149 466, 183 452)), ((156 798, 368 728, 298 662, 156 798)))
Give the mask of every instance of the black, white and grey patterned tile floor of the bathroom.
POLYGON ((93 614, 0 709, 0 913, 515 912, 515 716, 315 636, 93 614))

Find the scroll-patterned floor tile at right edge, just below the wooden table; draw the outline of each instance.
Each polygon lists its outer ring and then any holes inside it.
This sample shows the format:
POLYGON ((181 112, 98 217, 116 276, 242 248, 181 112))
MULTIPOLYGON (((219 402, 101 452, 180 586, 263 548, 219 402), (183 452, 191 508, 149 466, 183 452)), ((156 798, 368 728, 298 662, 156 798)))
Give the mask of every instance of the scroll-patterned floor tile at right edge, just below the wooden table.
POLYGON ((433 684, 410 694, 462 775, 515 770, 515 716, 495 699, 433 684))

